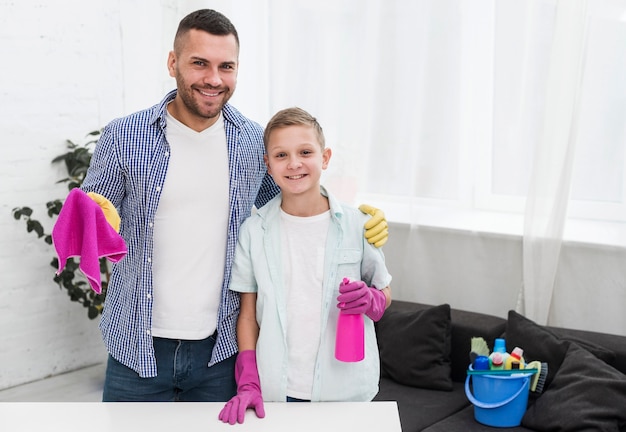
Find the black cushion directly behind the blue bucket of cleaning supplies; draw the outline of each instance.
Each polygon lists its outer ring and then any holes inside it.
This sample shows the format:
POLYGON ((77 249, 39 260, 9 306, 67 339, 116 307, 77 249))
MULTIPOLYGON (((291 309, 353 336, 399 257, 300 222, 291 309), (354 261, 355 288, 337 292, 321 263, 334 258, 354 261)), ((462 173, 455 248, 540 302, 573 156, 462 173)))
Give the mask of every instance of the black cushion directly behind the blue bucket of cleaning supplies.
POLYGON ((505 336, 508 351, 520 347, 524 350, 526 361, 539 360, 548 363, 545 386, 550 385, 554 379, 572 342, 582 344, 584 349, 601 360, 615 359, 613 352, 600 345, 567 335, 559 337, 548 328, 536 324, 513 310, 509 311, 505 336))

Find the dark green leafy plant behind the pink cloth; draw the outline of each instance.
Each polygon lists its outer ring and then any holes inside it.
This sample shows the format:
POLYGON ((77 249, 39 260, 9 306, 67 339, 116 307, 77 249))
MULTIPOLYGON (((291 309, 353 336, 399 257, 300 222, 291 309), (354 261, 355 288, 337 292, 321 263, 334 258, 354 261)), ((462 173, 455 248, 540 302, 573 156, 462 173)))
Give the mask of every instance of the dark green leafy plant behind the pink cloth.
MULTIPOLYGON (((79 187, 85 175, 87 174, 87 168, 89 168, 89 162, 93 154, 95 143, 98 141, 101 131, 96 130, 86 135, 84 142, 75 143, 71 140, 66 141, 68 151, 63 153, 54 159, 53 164, 63 162, 67 170, 67 177, 63 178, 57 183, 67 183, 68 191, 79 187)), ((54 199, 46 203, 48 208, 48 217, 56 218, 63 207, 63 200, 54 199)), ((16 220, 23 220, 26 223, 26 231, 34 232, 38 238, 41 238, 48 245, 52 245, 52 235, 45 232, 43 225, 37 219, 33 219, 33 210, 30 207, 16 207, 13 210, 13 217, 16 220)), ((56 270, 59 268, 59 260, 55 256, 50 262, 50 266, 54 268, 53 280, 59 285, 60 289, 66 289, 67 294, 71 301, 78 302, 87 308, 87 316, 89 319, 94 319, 100 313, 104 304, 106 296, 108 281, 109 281, 109 265, 106 258, 100 259, 100 273, 102 279, 102 294, 96 294, 89 285, 87 279, 79 271, 78 261, 74 258, 67 260, 65 268, 60 274, 56 274, 56 270)))

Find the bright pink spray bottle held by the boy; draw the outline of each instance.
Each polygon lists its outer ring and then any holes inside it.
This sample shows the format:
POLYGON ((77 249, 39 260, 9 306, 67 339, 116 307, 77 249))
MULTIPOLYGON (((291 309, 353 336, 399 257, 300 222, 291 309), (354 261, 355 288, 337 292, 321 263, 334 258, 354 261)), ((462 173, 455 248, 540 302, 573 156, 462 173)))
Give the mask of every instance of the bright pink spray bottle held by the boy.
MULTIPOLYGON (((343 283, 349 280, 344 278, 343 283)), ((335 358, 343 362, 358 362, 365 358, 365 322, 363 314, 339 312, 335 358)))

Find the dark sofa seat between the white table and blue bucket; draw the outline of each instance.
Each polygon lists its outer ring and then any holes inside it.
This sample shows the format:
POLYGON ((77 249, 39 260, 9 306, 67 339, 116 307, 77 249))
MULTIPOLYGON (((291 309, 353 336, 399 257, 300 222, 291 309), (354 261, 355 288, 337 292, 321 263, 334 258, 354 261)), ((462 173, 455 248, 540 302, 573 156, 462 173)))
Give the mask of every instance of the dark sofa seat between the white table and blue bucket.
POLYGON ((461 383, 453 383, 453 390, 447 392, 409 387, 391 378, 381 378, 374 400, 398 403, 402 432, 421 431, 470 404, 461 383))

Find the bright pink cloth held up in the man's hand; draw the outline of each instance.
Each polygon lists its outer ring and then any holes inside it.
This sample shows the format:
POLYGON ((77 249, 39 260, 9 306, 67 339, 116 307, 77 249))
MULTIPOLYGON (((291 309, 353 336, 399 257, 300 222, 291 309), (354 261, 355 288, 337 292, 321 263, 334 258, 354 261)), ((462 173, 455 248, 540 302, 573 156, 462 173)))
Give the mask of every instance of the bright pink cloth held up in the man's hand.
POLYGON ((128 252, 124 239, 107 222, 100 206, 78 188, 70 191, 61 208, 52 241, 59 257, 57 274, 68 258, 80 257, 78 268, 98 294, 102 293, 100 258, 116 263, 128 252))

